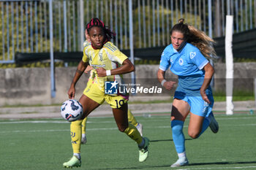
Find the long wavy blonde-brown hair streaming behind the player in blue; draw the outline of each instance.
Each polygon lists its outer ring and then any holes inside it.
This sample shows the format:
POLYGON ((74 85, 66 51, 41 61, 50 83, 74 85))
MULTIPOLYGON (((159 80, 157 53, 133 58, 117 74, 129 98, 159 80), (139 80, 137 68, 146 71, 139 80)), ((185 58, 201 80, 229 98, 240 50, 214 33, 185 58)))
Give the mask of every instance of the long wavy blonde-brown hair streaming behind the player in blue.
POLYGON ((217 58, 217 54, 214 50, 214 39, 211 39, 203 31, 198 30, 194 26, 184 23, 183 18, 179 19, 178 23, 173 26, 170 34, 172 34, 173 31, 180 31, 184 34, 184 39, 192 45, 195 45, 206 58, 217 58))

